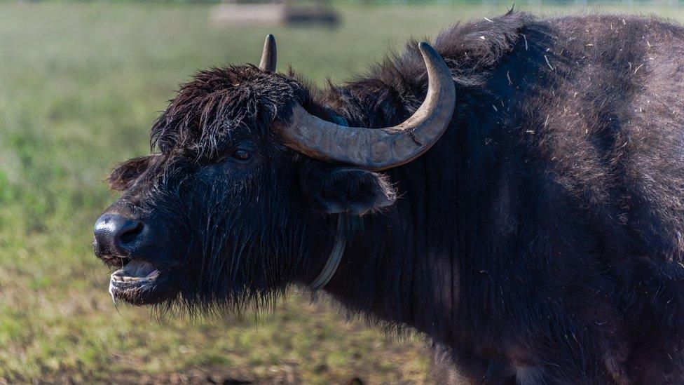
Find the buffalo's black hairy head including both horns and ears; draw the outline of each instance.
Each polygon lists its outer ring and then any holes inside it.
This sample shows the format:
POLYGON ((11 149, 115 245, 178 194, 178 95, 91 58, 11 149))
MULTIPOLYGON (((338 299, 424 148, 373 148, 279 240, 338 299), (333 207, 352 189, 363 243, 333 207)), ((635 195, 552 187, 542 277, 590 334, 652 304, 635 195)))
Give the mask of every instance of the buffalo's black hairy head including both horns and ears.
POLYGON ((348 127, 294 75, 276 73, 270 35, 259 67, 198 72, 153 124, 157 153, 109 175, 123 193, 95 222, 94 249, 116 268, 112 297, 239 309, 306 283, 334 217, 392 205, 378 171, 420 156, 449 125, 451 73, 419 48, 427 97, 390 128, 348 127))

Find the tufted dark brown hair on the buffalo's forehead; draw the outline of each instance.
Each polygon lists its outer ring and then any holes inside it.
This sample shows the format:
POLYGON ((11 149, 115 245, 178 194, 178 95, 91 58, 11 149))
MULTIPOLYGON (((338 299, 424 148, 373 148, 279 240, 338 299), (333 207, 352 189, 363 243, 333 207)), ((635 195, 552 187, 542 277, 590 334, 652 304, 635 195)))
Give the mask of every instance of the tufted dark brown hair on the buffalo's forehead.
POLYGON ((151 147, 163 154, 183 151, 217 156, 236 134, 266 135, 274 119, 289 120, 292 104, 308 90, 292 74, 270 74, 254 65, 214 67, 197 72, 151 129, 151 147))

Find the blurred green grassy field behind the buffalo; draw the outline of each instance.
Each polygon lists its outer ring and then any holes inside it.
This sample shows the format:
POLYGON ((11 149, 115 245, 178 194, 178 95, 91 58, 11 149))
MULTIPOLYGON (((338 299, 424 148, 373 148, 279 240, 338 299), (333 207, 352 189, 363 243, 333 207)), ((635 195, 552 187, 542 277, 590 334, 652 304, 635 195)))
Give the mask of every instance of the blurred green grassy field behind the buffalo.
MULTIPOLYGON (((538 15, 655 13, 682 0, 516 1, 538 15)), ((258 62, 345 81, 409 36, 491 18, 512 1, 0 2, 0 383, 423 383, 422 337, 385 336, 292 292, 259 318, 157 320, 111 303, 93 222, 102 180, 149 152, 148 130, 197 69, 258 62)))

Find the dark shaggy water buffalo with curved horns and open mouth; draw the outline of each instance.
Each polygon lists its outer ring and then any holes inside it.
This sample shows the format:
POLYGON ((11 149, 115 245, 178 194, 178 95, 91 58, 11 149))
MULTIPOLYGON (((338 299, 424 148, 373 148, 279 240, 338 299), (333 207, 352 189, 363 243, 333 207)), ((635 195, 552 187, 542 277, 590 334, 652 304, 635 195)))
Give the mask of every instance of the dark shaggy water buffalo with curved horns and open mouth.
POLYGON ((189 311, 290 285, 434 344, 442 381, 684 381, 684 28, 526 13, 321 90, 200 71, 109 176, 114 298, 189 311), (458 374, 456 374, 458 373, 458 374))

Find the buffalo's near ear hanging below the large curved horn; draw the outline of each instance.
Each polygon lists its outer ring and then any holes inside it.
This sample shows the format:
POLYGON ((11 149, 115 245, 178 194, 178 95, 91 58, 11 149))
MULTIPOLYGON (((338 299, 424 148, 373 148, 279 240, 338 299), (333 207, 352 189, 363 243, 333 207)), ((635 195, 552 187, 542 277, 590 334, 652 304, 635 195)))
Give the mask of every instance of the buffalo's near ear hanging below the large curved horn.
POLYGON ((364 215, 395 203, 397 194, 385 175, 360 168, 320 165, 301 176, 304 193, 322 212, 364 215))

